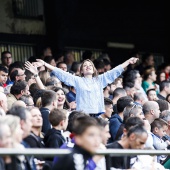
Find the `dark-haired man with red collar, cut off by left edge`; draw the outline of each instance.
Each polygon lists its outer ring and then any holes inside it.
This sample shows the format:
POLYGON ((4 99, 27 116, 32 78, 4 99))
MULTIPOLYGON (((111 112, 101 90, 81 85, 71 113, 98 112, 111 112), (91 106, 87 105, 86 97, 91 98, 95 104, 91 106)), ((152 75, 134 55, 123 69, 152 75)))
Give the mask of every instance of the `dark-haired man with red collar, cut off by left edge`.
POLYGON ((0 65, 0 84, 3 87, 6 87, 7 84, 7 79, 8 79, 8 69, 2 65, 0 65))

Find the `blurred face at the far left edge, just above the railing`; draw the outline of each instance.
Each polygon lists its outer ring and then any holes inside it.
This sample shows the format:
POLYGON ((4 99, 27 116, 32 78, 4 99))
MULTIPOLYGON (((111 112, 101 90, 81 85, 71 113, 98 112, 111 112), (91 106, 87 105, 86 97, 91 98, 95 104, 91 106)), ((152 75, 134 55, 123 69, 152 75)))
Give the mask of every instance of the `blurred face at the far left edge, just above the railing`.
POLYGON ((12 148, 11 130, 8 125, 3 126, 2 138, 0 139, 0 148, 12 148))

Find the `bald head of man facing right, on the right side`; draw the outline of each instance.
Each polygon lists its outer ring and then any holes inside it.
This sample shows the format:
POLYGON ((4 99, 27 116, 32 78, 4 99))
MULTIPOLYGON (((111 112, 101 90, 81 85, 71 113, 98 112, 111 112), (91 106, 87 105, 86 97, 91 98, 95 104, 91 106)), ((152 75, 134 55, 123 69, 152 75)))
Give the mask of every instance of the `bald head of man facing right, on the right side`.
POLYGON ((156 118, 160 116, 159 105, 155 101, 147 101, 143 105, 143 113, 149 123, 152 123, 156 118))

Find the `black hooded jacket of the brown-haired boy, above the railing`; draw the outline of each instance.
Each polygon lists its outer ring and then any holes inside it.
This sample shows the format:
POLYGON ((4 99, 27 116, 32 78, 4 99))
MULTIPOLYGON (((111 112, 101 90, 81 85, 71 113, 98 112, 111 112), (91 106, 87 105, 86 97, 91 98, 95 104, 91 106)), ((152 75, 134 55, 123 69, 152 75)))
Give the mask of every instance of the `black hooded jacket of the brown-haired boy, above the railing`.
POLYGON ((60 148, 64 142, 65 138, 62 136, 61 131, 54 128, 49 129, 44 137, 46 148, 60 148))

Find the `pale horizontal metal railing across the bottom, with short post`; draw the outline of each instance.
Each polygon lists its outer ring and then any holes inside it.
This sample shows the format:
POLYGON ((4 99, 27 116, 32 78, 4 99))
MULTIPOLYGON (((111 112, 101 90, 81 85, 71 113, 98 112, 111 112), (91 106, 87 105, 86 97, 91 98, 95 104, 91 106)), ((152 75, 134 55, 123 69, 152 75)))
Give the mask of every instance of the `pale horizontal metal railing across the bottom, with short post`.
MULTIPOLYGON (((42 157, 63 156, 71 153, 69 149, 6 149, 0 148, 0 156, 34 155, 42 157)), ((170 155, 170 150, 134 150, 134 149, 107 149, 98 150, 94 155, 105 155, 106 169, 110 170, 110 156, 133 156, 133 155, 170 155)))

